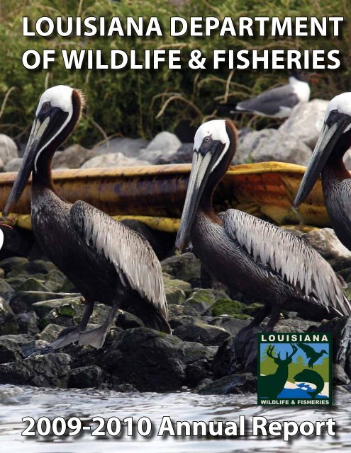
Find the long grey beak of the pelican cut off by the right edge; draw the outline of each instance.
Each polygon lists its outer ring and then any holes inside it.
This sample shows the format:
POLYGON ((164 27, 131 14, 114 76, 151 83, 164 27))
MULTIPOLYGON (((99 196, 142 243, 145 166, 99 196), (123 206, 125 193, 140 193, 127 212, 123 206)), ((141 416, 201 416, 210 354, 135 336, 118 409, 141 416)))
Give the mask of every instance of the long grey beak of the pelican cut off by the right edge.
POLYGON ((350 124, 351 117, 341 113, 335 115, 335 120, 333 120, 332 124, 328 125, 328 122, 324 122, 321 135, 313 150, 311 161, 308 164, 306 173, 303 175, 299 191, 294 200, 294 207, 299 207, 311 193, 318 176, 320 176, 330 154, 332 154, 335 145, 338 143, 338 139, 340 139, 342 133, 345 132, 345 129, 350 124))

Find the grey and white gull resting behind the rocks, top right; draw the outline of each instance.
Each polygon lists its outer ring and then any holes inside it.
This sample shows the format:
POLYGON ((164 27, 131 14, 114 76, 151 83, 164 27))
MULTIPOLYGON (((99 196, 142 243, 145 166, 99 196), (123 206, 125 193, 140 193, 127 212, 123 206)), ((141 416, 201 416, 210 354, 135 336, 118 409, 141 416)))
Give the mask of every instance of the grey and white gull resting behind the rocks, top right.
MULTIPOLYGON (((229 113, 235 113, 236 110, 261 116, 285 118, 290 115, 295 105, 300 102, 308 102, 310 94, 308 76, 302 71, 295 70, 291 71, 289 84, 269 88, 255 98, 239 102, 229 113)), ((221 105, 221 110, 225 107, 228 108, 228 105, 221 105)))

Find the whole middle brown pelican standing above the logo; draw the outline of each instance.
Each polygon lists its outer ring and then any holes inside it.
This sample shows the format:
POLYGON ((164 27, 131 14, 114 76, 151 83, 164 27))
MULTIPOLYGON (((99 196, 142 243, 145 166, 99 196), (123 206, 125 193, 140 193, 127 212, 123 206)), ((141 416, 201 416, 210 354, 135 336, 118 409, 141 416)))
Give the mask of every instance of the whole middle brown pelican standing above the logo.
POLYGON ((213 192, 233 159, 237 136, 225 120, 206 122, 197 130, 176 247, 182 250, 190 236, 206 270, 264 303, 251 328, 271 312, 266 327, 271 330, 283 308, 310 316, 351 314, 342 283, 306 241, 245 212, 213 211, 213 192))

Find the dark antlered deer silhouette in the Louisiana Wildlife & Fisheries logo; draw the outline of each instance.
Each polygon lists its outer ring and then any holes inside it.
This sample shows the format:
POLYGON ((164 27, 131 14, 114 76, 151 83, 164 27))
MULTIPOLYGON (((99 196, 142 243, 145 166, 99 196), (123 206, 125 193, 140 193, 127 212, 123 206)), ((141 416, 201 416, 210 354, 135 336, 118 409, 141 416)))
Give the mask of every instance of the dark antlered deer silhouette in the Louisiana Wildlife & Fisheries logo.
POLYGON ((267 376, 260 377, 260 394, 266 398, 277 398, 280 392, 284 389, 286 381, 288 379, 288 367, 292 362, 292 357, 298 350, 295 345, 291 345, 292 352, 289 355, 286 352, 285 359, 280 357, 280 352, 278 356, 274 357, 274 346, 270 345, 267 349, 267 357, 270 357, 274 360, 274 363, 278 365, 277 371, 274 374, 268 374, 267 376))

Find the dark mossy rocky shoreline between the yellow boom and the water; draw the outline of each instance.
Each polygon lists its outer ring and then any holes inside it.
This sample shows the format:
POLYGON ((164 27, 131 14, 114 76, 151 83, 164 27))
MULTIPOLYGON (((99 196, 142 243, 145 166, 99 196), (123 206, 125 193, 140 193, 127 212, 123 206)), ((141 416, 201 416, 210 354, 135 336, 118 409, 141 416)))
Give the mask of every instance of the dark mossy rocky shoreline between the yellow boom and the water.
MULTIPOLYGON (((351 295, 351 253, 333 230, 294 231, 328 259, 348 282, 346 292, 351 295)), ((9 234, 17 237, 21 231, 9 234)), ((18 237, 13 243, 18 244, 18 237)), ((240 363, 233 366, 232 345, 260 301, 228 294, 218 282, 211 282, 211 289, 201 288, 199 260, 190 252, 168 254, 162 270, 173 335, 152 331, 137 316, 119 312, 101 350, 78 345, 51 350, 57 334, 79 322, 84 300, 55 265, 38 256, 35 243, 29 260, 1 260, 0 383, 117 391, 191 389, 205 395, 254 392, 256 377, 240 363)), ((107 311, 108 306, 96 304, 89 327, 101 323, 107 311)), ((332 331, 334 384, 351 391, 350 329, 351 317, 316 321, 284 312, 275 330, 332 331)))

